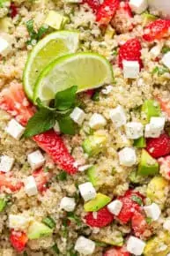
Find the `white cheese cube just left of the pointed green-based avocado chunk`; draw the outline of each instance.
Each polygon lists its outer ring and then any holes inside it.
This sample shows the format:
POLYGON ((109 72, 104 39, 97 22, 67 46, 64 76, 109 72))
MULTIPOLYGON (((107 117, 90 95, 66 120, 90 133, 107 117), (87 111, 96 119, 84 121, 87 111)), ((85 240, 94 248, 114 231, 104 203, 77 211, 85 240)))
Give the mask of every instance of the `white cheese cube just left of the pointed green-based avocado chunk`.
POLYGON ((137 155, 134 148, 124 147, 118 154, 119 162, 123 166, 132 166, 137 162, 137 155))

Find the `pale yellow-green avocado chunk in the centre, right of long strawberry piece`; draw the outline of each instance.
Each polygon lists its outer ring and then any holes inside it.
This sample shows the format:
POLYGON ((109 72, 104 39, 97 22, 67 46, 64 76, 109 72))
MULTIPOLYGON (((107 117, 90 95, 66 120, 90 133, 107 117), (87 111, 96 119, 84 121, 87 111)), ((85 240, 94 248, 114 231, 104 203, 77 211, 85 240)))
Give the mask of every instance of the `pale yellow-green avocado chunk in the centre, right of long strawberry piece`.
POLYGON ((89 156, 94 156, 96 154, 100 154, 100 152, 104 150, 106 143, 106 136, 94 134, 85 139, 82 147, 86 154, 89 156))

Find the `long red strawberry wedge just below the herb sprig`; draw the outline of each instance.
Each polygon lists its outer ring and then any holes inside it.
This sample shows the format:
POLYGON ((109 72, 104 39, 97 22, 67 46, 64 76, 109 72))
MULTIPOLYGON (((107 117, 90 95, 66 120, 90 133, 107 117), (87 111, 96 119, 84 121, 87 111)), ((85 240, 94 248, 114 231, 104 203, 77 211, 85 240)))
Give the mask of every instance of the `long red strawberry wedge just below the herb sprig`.
POLYGON ((51 156, 53 161, 70 174, 77 172, 76 162, 70 155, 67 147, 63 143, 63 139, 53 130, 35 135, 33 140, 37 142, 47 154, 51 156))

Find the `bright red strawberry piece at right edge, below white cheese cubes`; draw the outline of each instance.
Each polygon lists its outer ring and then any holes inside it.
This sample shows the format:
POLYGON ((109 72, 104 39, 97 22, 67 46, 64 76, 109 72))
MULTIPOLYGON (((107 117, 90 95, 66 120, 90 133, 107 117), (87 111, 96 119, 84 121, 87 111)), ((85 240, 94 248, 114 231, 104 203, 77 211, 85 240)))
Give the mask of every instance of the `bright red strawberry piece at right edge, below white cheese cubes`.
POLYGON ((150 138, 146 141, 146 149, 154 158, 170 154, 170 137, 163 133, 159 138, 150 138))

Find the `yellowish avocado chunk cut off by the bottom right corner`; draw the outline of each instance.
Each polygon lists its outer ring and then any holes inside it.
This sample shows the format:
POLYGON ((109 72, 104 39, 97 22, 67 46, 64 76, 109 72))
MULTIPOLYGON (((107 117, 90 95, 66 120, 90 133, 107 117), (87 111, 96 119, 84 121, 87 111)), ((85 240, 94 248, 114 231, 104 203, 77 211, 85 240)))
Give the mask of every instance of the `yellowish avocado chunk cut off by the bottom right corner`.
POLYGON ((170 234, 161 232, 158 237, 153 237, 146 242, 144 256, 166 256, 170 252, 170 234))

